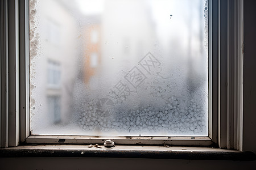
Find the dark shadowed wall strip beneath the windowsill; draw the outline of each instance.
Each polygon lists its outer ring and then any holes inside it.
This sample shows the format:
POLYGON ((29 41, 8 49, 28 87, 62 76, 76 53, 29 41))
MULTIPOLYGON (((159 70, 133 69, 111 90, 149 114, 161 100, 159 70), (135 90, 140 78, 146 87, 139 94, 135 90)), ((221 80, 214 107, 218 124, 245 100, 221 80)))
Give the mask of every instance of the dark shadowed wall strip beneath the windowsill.
POLYGON ((123 158, 5 158, 0 169, 255 169, 256 162, 123 158))

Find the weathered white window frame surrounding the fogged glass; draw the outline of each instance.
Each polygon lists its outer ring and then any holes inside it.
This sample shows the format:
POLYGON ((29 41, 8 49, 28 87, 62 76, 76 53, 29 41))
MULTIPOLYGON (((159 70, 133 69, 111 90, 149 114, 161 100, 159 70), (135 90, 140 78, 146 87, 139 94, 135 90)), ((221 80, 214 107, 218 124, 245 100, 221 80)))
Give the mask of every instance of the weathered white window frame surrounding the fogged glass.
POLYGON ((208 137, 30 135, 28 0, 2 0, 1 147, 22 142, 56 144, 59 139, 76 144, 112 139, 116 145, 219 146, 241 151, 243 0, 209 0, 208 8, 208 137))

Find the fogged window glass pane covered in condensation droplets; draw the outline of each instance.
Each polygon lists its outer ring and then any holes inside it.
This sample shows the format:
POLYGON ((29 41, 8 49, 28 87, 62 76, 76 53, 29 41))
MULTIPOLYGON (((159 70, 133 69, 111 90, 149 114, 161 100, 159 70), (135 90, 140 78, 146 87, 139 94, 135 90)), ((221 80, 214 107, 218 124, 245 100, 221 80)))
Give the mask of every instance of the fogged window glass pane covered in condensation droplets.
POLYGON ((208 135, 208 2, 31 0, 31 134, 208 135))

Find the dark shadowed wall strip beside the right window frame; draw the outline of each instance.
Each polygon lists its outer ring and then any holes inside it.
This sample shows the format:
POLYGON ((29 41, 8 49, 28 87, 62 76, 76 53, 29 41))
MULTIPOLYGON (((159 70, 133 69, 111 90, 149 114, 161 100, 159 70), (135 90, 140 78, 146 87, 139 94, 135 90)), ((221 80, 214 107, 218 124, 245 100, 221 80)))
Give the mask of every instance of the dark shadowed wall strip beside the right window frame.
POLYGON ((256 154, 256 1, 243 5, 243 150, 256 154))

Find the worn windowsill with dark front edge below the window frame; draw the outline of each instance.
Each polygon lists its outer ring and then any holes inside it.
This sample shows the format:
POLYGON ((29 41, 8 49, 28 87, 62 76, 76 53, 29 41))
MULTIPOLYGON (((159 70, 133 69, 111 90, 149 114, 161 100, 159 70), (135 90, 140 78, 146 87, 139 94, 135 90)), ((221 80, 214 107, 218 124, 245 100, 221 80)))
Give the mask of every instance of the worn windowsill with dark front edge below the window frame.
POLYGON ((250 151, 185 146, 115 146, 36 145, 1 148, 0 157, 90 157, 90 158, 155 158, 193 160, 255 160, 250 151))

